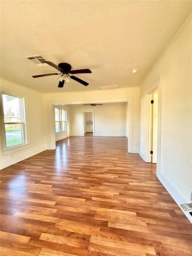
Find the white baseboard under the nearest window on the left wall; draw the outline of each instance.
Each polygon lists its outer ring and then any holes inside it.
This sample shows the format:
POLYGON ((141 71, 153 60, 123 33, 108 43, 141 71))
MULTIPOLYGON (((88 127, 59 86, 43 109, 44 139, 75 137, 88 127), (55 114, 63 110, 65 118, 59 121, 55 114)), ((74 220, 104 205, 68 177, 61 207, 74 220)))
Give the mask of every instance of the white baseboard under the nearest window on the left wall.
POLYGON ((40 147, 40 148, 33 149, 31 151, 25 152, 25 153, 23 153, 21 155, 17 155, 17 156, 15 156, 13 158, 9 158, 9 159, 6 159, 4 161, 1 161, 1 163, 0 163, 0 170, 3 169, 3 168, 6 168, 6 167, 8 167, 8 166, 10 166, 12 164, 18 163, 18 162, 20 162, 20 161, 22 161, 22 160, 24 160, 26 158, 34 156, 34 155, 36 155, 36 154, 38 154, 38 153, 40 153, 40 152, 42 152, 42 151, 44 151, 46 149, 47 149, 46 146, 43 146, 43 147, 40 147))

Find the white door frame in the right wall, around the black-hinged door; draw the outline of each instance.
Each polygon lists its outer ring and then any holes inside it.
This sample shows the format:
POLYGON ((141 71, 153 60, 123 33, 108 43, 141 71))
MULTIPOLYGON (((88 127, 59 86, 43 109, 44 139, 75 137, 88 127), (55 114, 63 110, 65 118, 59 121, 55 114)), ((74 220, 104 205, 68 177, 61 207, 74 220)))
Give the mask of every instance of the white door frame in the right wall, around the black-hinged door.
POLYGON ((152 122, 152 94, 158 89, 158 129, 157 129, 157 170, 156 175, 159 178, 160 157, 161 157, 161 80, 160 77, 153 85, 145 91, 146 109, 145 109, 145 161, 151 163, 151 122, 152 122))

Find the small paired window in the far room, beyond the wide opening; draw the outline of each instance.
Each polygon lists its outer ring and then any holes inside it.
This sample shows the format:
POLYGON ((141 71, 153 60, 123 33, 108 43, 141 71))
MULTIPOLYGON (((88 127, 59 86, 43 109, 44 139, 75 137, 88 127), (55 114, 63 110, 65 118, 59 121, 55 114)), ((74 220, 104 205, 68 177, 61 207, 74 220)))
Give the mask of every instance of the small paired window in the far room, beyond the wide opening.
POLYGON ((55 132, 67 131, 67 111, 55 108, 55 132))

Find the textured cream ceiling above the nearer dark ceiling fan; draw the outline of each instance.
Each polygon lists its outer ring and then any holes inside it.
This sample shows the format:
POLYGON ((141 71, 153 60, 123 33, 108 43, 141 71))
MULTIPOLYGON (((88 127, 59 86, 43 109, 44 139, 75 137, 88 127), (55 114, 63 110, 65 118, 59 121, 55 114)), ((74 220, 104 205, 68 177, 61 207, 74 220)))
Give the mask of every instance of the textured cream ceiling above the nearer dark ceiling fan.
POLYGON ((139 86, 192 11, 192 1, 49 0, 1 1, 1 77, 50 92, 98 90, 99 86, 139 86), (72 69, 85 87, 71 81, 57 88, 57 72, 25 56, 42 54, 72 69), (132 69, 138 69, 132 74, 132 69))

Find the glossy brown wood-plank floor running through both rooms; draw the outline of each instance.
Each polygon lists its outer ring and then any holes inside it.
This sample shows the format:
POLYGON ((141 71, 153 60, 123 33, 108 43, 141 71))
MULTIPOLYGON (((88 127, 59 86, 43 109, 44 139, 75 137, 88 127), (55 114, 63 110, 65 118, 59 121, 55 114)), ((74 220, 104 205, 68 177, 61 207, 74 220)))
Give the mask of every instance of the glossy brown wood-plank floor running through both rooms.
POLYGON ((69 137, 1 170, 1 256, 191 256, 192 229, 127 138, 69 137))

